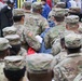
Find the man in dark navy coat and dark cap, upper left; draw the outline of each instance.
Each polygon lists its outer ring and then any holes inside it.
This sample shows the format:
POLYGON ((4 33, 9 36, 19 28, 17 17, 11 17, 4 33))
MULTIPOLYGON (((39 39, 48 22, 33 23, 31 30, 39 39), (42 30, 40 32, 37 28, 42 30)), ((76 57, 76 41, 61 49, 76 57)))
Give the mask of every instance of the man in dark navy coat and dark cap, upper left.
POLYGON ((12 10, 14 6, 14 2, 13 1, 8 1, 6 2, 8 5, 3 6, 1 10, 1 36, 2 35, 2 29, 6 26, 12 26, 13 25, 13 14, 12 14, 12 10))

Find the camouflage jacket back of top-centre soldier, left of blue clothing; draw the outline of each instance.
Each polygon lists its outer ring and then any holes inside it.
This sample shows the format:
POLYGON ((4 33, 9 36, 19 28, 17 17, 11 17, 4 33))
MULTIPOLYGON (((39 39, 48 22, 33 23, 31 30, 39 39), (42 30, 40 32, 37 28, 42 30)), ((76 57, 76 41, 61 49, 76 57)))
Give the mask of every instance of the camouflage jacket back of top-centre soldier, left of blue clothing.
POLYGON ((38 13, 32 13, 25 19, 25 27, 27 27, 30 30, 29 25, 32 27, 32 31, 35 31, 38 35, 43 32, 45 28, 49 28, 47 21, 38 13))

